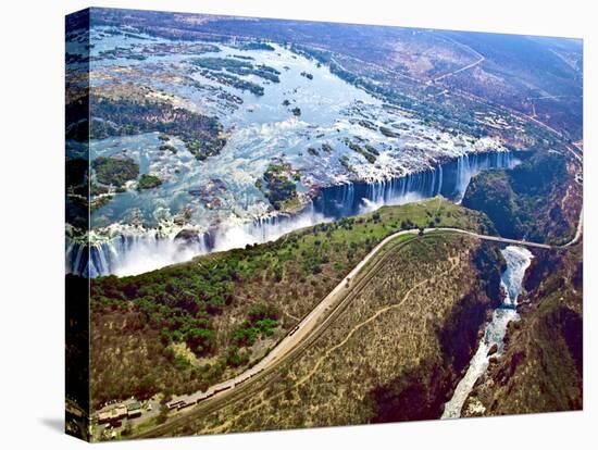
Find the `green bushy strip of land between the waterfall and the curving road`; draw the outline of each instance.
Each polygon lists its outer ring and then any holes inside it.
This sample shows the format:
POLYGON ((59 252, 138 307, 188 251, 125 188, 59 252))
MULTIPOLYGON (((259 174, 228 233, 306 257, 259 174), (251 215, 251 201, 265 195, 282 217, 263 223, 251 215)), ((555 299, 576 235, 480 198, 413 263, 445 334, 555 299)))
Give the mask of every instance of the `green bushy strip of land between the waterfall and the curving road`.
POLYGON ((242 371, 384 237, 431 225, 490 229, 484 215, 437 198, 138 276, 91 280, 94 405, 195 391, 242 371))

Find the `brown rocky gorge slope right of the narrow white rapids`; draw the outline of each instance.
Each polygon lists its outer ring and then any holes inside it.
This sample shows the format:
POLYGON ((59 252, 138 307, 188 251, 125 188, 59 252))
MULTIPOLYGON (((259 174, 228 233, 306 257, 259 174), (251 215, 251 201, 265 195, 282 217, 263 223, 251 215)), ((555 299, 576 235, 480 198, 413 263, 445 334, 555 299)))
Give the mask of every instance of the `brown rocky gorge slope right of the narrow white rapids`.
POLYGON ((583 407, 582 249, 536 257, 510 326, 504 353, 491 361, 463 415, 578 410, 583 407))

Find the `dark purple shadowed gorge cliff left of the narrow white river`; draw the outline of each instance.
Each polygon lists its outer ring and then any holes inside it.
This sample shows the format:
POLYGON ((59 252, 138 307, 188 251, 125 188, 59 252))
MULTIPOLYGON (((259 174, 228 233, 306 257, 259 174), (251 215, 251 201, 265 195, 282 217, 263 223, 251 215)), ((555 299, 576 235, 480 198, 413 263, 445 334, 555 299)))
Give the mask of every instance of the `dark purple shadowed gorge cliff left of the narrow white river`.
POLYGON ((471 255, 477 283, 449 309, 435 328, 439 352, 424 359, 390 384, 371 392, 373 422, 438 418, 447 396, 475 352, 490 309, 500 304, 500 272, 504 265, 495 246, 482 245, 471 255))

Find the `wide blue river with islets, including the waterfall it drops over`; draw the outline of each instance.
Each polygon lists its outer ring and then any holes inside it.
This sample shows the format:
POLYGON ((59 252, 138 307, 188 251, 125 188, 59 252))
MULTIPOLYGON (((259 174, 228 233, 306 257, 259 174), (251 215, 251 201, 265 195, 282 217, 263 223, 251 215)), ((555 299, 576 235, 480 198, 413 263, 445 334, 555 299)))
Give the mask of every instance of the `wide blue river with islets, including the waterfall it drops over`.
MULTIPOLYGON (((276 71, 278 83, 239 75, 263 88, 257 96, 216 82, 213 76, 221 71, 210 76, 198 71, 192 63, 197 49, 189 43, 121 32, 94 27, 90 89, 101 93, 132 84, 161 92, 190 111, 217 117, 226 146, 198 161, 177 136, 169 137, 175 151, 165 151, 157 130, 91 139, 90 161, 133 160, 139 174, 158 176, 162 184, 137 189, 129 183, 90 212, 87 228, 70 228, 67 273, 137 275, 384 204, 438 193, 458 202, 478 172, 519 162, 499 140, 427 125, 286 46, 272 43, 269 51, 239 48, 235 41, 203 42, 212 50, 199 53, 202 59, 238 63, 241 58, 276 71), (144 58, 121 54, 129 50, 144 58), (295 171, 297 200, 304 207, 300 213, 275 211, 257 185, 271 164, 295 171)), ((67 143, 67 154, 70 149, 80 152, 67 143)))

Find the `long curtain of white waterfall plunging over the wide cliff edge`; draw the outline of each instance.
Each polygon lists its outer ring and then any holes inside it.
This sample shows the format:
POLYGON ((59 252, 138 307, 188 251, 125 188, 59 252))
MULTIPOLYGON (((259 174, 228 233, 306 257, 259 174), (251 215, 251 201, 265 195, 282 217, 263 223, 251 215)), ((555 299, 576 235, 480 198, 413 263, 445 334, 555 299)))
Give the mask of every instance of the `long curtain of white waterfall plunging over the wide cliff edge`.
POLYGON ((66 250, 66 270, 85 277, 136 275, 188 261, 212 251, 275 240, 298 228, 398 205, 437 195, 460 201, 472 178, 487 168, 511 168, 520 161, 510 152, 466 154, 421 172, 377 182, 342 183, 320 189, 300 213, 253 221, 198 234, 190 240, 158 237, 155 232, 122 234, 66 250))

